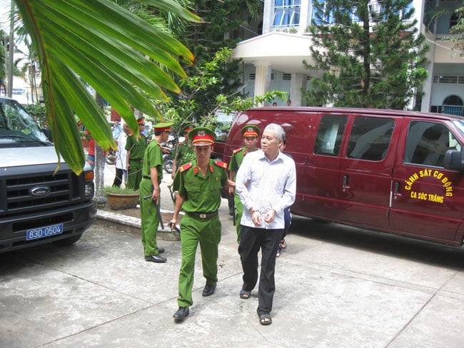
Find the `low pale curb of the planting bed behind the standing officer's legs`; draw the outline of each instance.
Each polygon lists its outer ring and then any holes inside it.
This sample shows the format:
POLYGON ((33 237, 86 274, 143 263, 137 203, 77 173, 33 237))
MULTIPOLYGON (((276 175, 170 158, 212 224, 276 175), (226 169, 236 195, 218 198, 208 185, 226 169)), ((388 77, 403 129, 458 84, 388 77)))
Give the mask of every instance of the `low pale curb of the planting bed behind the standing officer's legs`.
MULTIPOLYGON (((168 210, 161 210, 161 213, 173 213, 168 210)), ((132 233, 133 235, 141 235, 141 219, 133 218, 123 214, 113 213, 106 210, 96 211, 96 223, 110 228, 115 228, 122 232, 132 233)), ((156 237, 159 240, 168 240, 176 242, 181 240, 181 235, 171 230, 171 228, 158 227, 156 237)))

